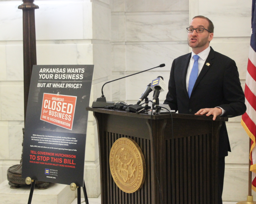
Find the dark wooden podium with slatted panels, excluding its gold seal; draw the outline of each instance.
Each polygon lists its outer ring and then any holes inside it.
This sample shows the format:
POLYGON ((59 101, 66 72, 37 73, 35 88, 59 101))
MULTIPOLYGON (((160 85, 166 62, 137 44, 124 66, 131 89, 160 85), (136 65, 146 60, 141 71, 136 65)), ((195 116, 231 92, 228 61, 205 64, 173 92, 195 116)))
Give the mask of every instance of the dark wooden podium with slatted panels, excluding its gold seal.
POLYGON ((161 197, 164 204, 217 204, 219 131, 227 117, 175 113, 151 121, 148 114, 86 110, 97 122, 102 204, 161 204, 161 197), (121 137, 133 139, 145 157, 145 182, 134 193, 118 188, 109 167, 110 149, 121 137))

